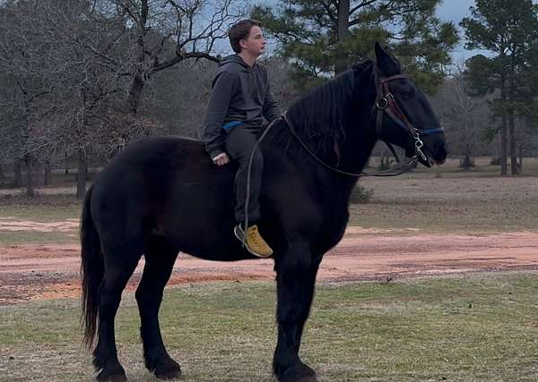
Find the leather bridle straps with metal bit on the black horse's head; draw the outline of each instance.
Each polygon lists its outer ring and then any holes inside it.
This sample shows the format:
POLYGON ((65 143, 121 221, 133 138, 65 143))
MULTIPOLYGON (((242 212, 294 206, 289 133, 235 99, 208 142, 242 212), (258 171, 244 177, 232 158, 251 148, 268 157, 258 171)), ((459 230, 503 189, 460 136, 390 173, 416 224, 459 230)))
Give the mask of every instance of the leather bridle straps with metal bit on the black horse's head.
MULTIPOLYGON (((407 117, 404 115, 404 112, 398 106, 398 103, 396 102, 395 96, 393 96, 392 92, 390 91, 390 88, 388 87, 388 82, 395 81, 395 80, 401 80, 401 79, 409 79, 409 76, 405 74, 395 74, 393 76, 389 77, 383 77, 379 75, 379 70, 377 69, 377 64, 374 64, 374 76, 376 78, 376 103, 374 104, 374 113, 377 113, 376 116, 376 133, 377 137, 381 139, 381 134, 383 132, 383 116, 388 115, 398 126, 400 126, 402 129, 404 129, 405 132, 408 132, 414 141, 414 158, 421 157, 423 160, 427 160, 428 158, 426 155, 422 152, 422 147, 424 146, 424 142, 422 142, 421 137, 425 137, 427 135, 435 134, 438 132, 444 132, 445 129, 442 127, 436 127, 433 129, 417 129, 412 125, 412 123, 409 122, 407 117)), ((386 142, 389 149, 391 149, 394 152, 394 149, 391 148, 391 145, 389 142, 386 142)))

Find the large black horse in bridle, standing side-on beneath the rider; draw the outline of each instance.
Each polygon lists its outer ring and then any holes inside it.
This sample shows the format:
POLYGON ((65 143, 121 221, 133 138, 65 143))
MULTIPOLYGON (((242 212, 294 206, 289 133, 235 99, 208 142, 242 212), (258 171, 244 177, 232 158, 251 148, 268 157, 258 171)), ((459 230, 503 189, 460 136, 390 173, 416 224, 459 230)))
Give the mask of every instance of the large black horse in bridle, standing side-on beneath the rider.
MULTIPOLYGON (((355 64, 301 98, 265 132, 260 230, 273 247, 276 271, 273 373, 280 381, 315 381, 299 346, 317 268, 342 239, 349 218, 357 177, 341 172, 360 173, 377 140, 402 147, 425 166, 442 163, 445 138, 427 98, 378 45, 375 61, 355 64)), ((252 258, 233 234, 236 169, 213 166, 196 140, 141 140, 119 154, 88 191, 81 230, 82 318, 89 347, 97 335, 93 364, 99 380, 126 379, 117 360, 114 318, 142 256, 135 297, 145 365, 158 378, 180 375, 161 338, 163 288, 178 251, 219 261, 252 258)))

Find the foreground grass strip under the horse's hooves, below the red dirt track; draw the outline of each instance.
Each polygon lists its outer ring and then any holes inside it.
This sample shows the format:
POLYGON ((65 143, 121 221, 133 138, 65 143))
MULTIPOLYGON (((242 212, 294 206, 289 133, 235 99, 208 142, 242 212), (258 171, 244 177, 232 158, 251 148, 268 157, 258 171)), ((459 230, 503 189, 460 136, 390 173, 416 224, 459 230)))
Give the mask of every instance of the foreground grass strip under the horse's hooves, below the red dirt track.
MULTIPOLYGON (((317 288, 301 354, 320 381, 507 381, 538 378, 535 272, 411 279, 317 288)), ((79 347, 78 303, 0 307, 0 381, 91 380, 79 347), (10 359, 12 357, 12 359, 10 359)), ((161 327, 186 381, 271 381, 274 285, 169 289, 161 327)), ((143 369, 132 294, 117 318, 120 361, 143 369)))

